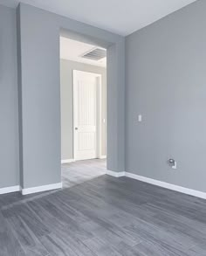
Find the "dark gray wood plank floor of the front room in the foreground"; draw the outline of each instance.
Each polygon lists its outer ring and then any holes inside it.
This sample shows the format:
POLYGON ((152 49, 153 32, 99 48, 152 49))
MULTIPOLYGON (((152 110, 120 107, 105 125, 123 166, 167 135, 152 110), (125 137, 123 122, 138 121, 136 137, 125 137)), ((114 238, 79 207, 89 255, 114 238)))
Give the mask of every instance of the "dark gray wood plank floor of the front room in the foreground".
POLYGON ((206 255, 205 200, 127 177, 3 195, 0 209, 1 256, 206 255))

